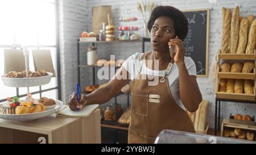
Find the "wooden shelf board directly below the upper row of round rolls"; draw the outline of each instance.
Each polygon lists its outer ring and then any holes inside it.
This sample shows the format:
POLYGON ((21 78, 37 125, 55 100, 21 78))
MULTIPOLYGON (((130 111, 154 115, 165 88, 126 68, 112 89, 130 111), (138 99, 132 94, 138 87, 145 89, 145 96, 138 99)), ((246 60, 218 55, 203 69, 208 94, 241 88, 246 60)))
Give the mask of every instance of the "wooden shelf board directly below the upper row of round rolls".
POLYGON ((231 72, 218 72, 219 78, 232 78, 232 79, 255 79, 255 68, 253 73, 231 73, 231 72))

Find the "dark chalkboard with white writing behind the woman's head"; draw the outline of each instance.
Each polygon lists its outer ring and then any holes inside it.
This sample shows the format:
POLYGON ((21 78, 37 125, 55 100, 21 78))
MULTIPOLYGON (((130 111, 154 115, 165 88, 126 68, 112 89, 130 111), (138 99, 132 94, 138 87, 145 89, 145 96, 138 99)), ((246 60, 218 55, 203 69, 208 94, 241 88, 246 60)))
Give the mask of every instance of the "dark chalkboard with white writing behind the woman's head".
POLYGON ((209 10, 183 11, 188 19, 188 35, 184 39, 185 56, 196 64, 199 77, 208 76, 209 10))

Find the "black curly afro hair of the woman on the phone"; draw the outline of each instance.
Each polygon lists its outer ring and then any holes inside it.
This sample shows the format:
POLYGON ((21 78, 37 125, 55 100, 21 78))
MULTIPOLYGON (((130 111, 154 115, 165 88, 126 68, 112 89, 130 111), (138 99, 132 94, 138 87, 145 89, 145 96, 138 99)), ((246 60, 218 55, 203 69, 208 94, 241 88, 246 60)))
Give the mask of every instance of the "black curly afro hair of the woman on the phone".
POLYGON ((175 36, 178 36, 181 40, 184 40, 187 37, 188 33, 188 19, 180 10, 172 6, 157 6, 152 10, 150 19, 147 23, 148 31, 151 31, 155 20, 160 16, 168 16, 174 20, 175 36))

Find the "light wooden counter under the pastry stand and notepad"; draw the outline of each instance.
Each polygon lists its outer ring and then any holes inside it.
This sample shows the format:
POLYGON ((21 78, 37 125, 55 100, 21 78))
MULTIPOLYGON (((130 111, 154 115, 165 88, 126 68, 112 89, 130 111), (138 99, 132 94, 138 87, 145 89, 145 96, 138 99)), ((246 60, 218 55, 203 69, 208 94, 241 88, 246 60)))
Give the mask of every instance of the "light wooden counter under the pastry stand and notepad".
POLYGON ((0 119, 2 143, 101 143, 100 109, 87 118, 51 115, 28 122, 0 119))

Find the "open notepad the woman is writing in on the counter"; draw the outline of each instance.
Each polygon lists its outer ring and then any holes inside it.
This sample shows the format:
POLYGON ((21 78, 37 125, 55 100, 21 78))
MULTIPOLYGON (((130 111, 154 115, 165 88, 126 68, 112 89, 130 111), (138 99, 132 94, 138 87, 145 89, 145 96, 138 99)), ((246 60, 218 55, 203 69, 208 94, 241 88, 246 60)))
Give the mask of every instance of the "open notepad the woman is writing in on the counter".
POLYGON ((96 110, 96 108, 98 107, 99 107, 98 104, 90 104, 82 108, 80 111, 73 111, 73 110, 70 110, 69 107, 67 107, 57 112, 57 116, 72 117, 72 118, 86 118, 87 116, 92 114, 92 112, 96 110))

